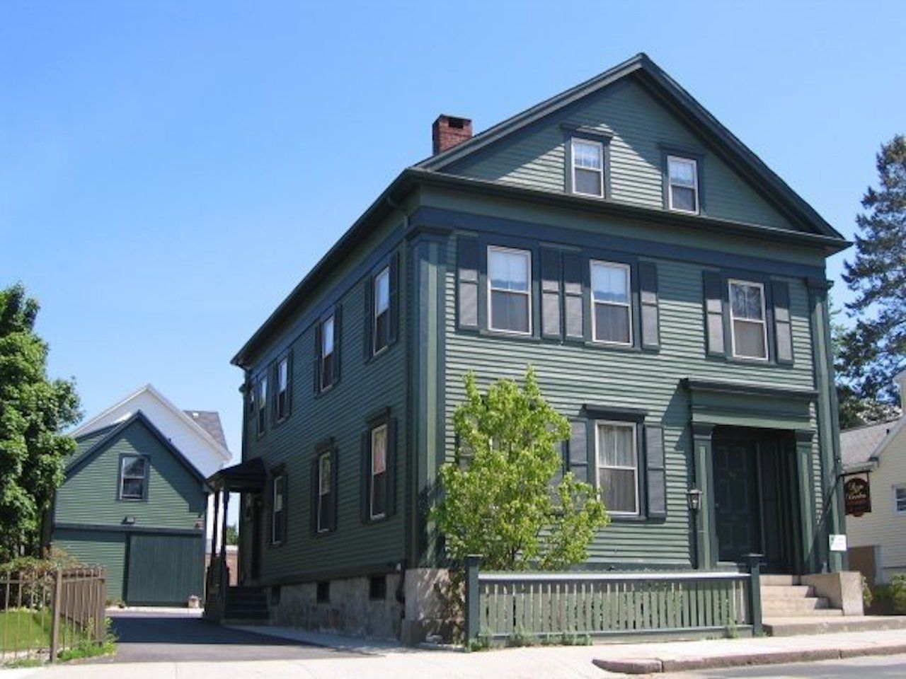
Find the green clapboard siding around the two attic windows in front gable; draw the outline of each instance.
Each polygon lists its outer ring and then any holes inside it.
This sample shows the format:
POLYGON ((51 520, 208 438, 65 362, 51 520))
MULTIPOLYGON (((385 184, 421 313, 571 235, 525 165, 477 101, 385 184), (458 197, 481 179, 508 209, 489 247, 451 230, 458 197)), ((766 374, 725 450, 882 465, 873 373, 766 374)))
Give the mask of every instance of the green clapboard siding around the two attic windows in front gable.
POLYGON ((444 171, 548 191, 564 190, 562 124, 612 134, 610 177, 613 200, 663 206, 663 150, 672 145, 705 153, 702 196, 714 217, 791 228, 775 206, 760 196, 659 100, 634 81, 614 84, 568 110, 549 116, 514 139, 465 158, 444 171))

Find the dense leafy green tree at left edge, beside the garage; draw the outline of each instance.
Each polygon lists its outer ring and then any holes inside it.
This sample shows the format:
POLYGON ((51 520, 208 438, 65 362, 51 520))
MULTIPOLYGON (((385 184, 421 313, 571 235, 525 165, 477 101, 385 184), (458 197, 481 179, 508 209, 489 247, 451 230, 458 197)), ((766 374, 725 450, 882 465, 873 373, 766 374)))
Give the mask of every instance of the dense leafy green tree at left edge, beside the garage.
POLYGON ((41 523, 75 450, 61 431, 79 419, 72 381, 47 378, 47 344, 34 332, 38 302, 0 290, 0 562, 35 555, 41 523))

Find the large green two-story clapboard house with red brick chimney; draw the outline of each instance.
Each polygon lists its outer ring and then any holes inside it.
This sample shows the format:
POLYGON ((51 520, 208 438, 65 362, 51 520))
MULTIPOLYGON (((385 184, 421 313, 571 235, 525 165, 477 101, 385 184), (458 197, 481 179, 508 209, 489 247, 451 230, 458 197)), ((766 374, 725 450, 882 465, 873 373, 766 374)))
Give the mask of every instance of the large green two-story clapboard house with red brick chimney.
POLYGON ((211 483, 243 493, 240 580, 272 619, 430 628, 463 375, 527 363, 611 512, 583 568, 841 569, 843 237, 643 54, 433 133, 234 359, 243 463, 211 483))

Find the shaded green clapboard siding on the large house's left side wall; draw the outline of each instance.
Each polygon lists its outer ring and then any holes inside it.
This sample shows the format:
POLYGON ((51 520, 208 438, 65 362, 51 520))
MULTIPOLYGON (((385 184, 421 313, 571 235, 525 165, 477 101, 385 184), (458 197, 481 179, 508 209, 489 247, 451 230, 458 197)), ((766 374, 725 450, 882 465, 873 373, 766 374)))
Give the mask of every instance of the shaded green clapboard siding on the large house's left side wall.
MULTIPOLYGON (((333 273, 260 352, 249 375, 272 365, 272 357, 287 346, 292 349, 292 413, 276 425, 268 416, 265 435, 255 434, 255 419, 246 407, 244 457, 263 456, 269 469, 283 466, 286 473, 286 536, 279 546, 270 545, 270 498, 264 498, 264 545, 261 550, 261 577, 265 583, 302 581, 328 577, 337 569, 392 569, 404 559, 406 452, 406 294, 405 253, 397 245, 400 280, 400 325, 397 340, 378 357, 363 356, 365 331, 364 284, 366 276, 351 277, 378 247, 399 240, 400 220, 388 221, 361 244, 360 253, 348 266, 333 273), (339 295, 339 297, 337 297, 339 295), (312 322, 299 329, 300 319, 323 301, 337 299, 342 308, 341 327, 335 339, 340 356, 340 380, 328 391, 314 394, 315 338, 312 322), (396 418, 396 512, 373 523, 361 521, 361 435, 368 430, 366 418, 390 408, 396 418), (337 479, 336 530, 314 535, 312 531, 313 459, 315 446, 333 438, 336 446, 337 479)), ((390 252, 387 253, 389 258, 390 252)), ((381 262, 385 261, 381 258, 381 262)), ((371 271, 371 268, 369 268, 371 271)), ((370 277, 370 276, 369 276, 370 277)), ((269 368, 268 368, 269 369, 269 368)), ((273 378, 271 378, 273 380, 273 378)), ((242 568, 249 568, 251 527, 243 520, 246 548, 242 568)))

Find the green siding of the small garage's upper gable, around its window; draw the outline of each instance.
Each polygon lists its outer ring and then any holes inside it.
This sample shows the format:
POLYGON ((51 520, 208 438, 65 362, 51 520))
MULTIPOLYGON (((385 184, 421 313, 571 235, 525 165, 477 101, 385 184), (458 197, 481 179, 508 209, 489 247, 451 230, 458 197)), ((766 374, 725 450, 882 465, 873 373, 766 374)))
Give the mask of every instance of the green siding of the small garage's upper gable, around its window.
POLYGON ((120 526, 126 516, 142 528, 193 529, 203 519, 207 496, 190 473, 140 420, 77 467, 56 495, 56 523, 120 526), (120 455, 149 456, 147 501, 119 500, 120 455))

